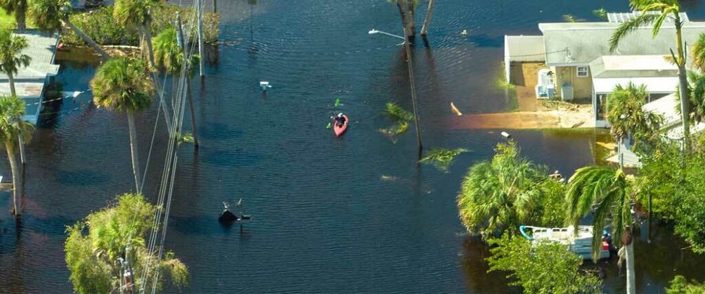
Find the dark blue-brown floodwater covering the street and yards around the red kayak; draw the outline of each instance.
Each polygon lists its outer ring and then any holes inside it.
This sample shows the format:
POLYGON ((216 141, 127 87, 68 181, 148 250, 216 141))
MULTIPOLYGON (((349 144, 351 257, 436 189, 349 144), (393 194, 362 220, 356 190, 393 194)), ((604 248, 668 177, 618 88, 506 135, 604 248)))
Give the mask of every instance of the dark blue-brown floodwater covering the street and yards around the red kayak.
MULTIPOLYGON (((205 80, 193 82, 201 147, 178 151, 166 236, 166 249, 190 267, 183 292, 516 293, 502 274, 486 274, 486 247, 465 233, 455 207, 465 171, 505 140, 501 130, 447 130, 449 104, 466 114, 503 111, 509 102, 492 86, 503 35, 538 34, 537 23, 565 13, 594 20, 597 8, 627 11, 627 1, 437 1, 429 47, 418 39, 412 61, 424 146, 470 150, 448 173, 416 164, 413 130, 396 142, 377 132, 392 123, 386 102, 411 109, 403 47, 367 33, 400 34, 395 6, 255 2, 218 1, 220 39, 235 43, 219 47, 205 80), (266 94, 260 80, 273 86, 266 94), (326 130, 336 98, 352 121, 341 139, 326 130), (243 235, 217 222, 221 202, 240 197, 254 219, 243 235)), ((685 6, 691 19, 705 18, 697 1, 685 6)), ((425 11, 417 10, 418 30, 425 11)), ((64 91, 88 89, 93 66, 57 62, 64 91)), ((70 293, 65 227, 133 188, 126 119, 90 99, 88 92, 45 107, 27 148, 21 223, 8 213, 11 194, 0 194, 2 293, 70 293)), ((156 106, 137 120, 143 169, 156 106)), ((591 133, 511 133, 526 157, 564 175, 596 161, 591 133)), ((145 185, 152 201, 166 140, 160 121, 145 185)), ((638 293, 663 293, 675 274, 705 278, 705 258, 681 250, 670 232, 654 226, 651 243, 645 234, 637 241, 638 293)), ((605 291, 623 292, 616 263, 599 266, 605 291)))

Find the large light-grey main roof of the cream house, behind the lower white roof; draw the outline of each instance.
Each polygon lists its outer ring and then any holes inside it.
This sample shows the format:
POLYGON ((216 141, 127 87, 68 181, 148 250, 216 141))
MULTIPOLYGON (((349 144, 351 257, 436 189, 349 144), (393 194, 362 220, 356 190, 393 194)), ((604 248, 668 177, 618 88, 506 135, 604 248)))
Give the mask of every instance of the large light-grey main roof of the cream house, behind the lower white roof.
MULTIPOLYGON (((654 36, 651 27, 645 26, 631 32, 615 52, 609 51, 609 39, 619 23, 539 23, 544 34, 546 64, 588 64, 606 55, 670 55, 675 46, 675 27, 663 23, 661 32, 654 36)), ((705 31, 705 23, 685 22, 682 37, 687 44, 694 44, 705 31)))

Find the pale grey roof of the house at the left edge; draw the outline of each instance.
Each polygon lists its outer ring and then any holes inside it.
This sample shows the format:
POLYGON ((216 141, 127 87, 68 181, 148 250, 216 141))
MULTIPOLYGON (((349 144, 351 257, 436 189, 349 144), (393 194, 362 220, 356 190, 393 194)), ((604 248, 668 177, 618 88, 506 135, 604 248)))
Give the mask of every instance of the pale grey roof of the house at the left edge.
MULTIPOLYGON (((47 75, 59 73, 59 66, 54 64, 54 54, 56 53, 56 43, 59 42, 59 35, 54 34, 52 36, 37 30, 25 30, 14 34, 27 39, 29 47, 22 53, 32 57, 30 66, 18 70, 15 76, 17 80, 44 80, 47 75)), ((0 81, 6 80, 7 75, 0 73, 0 81)))

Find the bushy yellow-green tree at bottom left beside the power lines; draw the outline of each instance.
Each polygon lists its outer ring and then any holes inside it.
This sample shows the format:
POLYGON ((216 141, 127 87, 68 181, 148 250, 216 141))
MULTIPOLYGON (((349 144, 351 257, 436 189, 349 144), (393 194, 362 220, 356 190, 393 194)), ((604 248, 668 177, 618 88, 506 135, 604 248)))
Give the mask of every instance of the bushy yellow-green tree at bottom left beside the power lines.
MULTIPOLYGON (((188 268, 169 252, 157 262, 152 252, 147 252, 145 235, 152 226, 154 213, 159 207, 149 204, 138 194, 123 194, 99 212, 86 216, 66 229, 64 244, 66 264, 77 293, 114 293, 120 285, 121 268, 118 258, 127 260, 130 255, 137 285, 145 276, 151 286, 153 276, 144 274, 145 264, 158 264, 159 271, 171 274, 176 286, 188 285, 188 268), (126 248, 130 247, 130 250, 126 248)), ((158 287, 164 274, 159 275, 158 287)))

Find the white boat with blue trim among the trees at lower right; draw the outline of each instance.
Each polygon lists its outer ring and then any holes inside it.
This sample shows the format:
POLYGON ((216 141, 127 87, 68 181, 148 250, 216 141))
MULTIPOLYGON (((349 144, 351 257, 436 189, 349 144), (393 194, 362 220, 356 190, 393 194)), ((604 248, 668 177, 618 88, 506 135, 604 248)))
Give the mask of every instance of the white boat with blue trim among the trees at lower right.
MULTIPOLYGON (((532 242, 549 240, 568 245, 570 252, 582 257, 592 259, 592 226, 578 226, 577 234, 574 226, 568 228, 541 228, 537 226, 520 226, 520 233, 532 242)), ((600 248, 600 259, 610 257, 609 234, 603 232, 600 248)))

